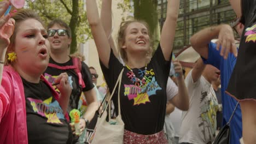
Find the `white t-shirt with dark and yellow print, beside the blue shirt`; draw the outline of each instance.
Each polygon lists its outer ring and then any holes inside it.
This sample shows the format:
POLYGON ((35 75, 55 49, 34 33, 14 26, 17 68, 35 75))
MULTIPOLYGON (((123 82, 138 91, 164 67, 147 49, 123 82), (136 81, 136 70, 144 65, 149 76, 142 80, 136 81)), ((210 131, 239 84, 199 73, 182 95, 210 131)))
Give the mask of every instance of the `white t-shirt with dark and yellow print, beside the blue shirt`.
POLYGON ((205 144, 214 140, 218 101, 211 83, 203 76, 194 82, 191 71, 185 79, 189 110, 182 112, 179 143, 205 144))

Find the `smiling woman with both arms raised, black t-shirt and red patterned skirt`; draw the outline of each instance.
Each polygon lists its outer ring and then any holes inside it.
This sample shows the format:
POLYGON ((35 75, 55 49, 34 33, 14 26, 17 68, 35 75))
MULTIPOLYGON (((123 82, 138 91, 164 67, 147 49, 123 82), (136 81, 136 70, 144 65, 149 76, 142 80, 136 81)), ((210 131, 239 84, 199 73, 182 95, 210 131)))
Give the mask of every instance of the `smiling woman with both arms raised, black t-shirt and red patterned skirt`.
MULTIPOLYGON (((166 84, 179 1, 169 0, 167 7, 160 44, 153 56, 147 23, 136 20, 121 23, 118 49, 125 62, 123 67, 110 48, 108 35, 98 16, 96 1, 86 1, 88 21, 110 91, 124 68, 120 88, 121 116, 125 123, 124 143, 167 143, 163 131, 166 84)), ((115 93, 115 107, 118 105, 117 100, 118 95, 115 93)))

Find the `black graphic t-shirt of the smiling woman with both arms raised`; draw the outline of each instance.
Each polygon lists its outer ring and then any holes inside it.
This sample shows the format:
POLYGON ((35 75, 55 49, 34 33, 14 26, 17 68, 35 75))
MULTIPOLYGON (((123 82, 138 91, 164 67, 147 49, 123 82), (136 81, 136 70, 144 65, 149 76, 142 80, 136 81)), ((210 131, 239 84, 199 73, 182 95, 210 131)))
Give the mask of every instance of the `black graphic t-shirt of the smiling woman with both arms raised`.
MULTIPOLYGON (((123 65, 110 52, 109 68, 104 67, 101 62, 101 69, 106 79, 110 92, 113 91, 123 65)), ((151 61, 141 69, 132 69, 136 77, 145 77, 144 87, 138 83, 133 84, 131 71, 125 67, 120 88, 121 116, 125 123, 125 129, 133 133, 150 135, 161 131, 164 128, 166 111, 166 85, 170 71, 171 61, 165 61, 160 45, 155 51, 151 61)), ((115 112, 118 113, 118 88, 113 96, 115 112)))

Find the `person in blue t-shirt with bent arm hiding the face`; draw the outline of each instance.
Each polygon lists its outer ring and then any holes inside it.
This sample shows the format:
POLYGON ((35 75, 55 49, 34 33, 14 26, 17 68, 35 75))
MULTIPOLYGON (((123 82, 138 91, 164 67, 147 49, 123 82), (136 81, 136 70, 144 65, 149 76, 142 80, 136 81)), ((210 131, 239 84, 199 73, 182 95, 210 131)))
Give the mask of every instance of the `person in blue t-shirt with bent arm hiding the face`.
MULTIPOLYGON (((244 26, 235 19, 231 25, 212 26, 194 34, 190 43, 197 51, 205 64, 211 64, 220 70, 221 95, 223 106, 223 124, 229 121, 229 118, 235 109, 237 101, 225 93, 228 87, 229 79, 236 64, 237 47, 232 28, 240 35, 244 26), (218 37, 216 44, 211 40, 218 37), (228 53, 230 50, 232 53, 228 53)), ((238 105, 235 115, 230 123, 231 140, 230 143, 240 144, 239 139, 242 137, 242 115, 241 108, 238 105)))

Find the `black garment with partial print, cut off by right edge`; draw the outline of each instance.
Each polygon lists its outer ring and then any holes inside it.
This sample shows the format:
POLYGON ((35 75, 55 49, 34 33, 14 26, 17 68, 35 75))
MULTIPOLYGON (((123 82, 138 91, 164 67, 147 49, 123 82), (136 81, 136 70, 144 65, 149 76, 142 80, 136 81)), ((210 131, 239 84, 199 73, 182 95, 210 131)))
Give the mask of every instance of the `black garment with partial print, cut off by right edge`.
POLYGON ((226 91, 238 100, 256 99, 256 0, 242 2, 245 28, 235 68, 226 91))

